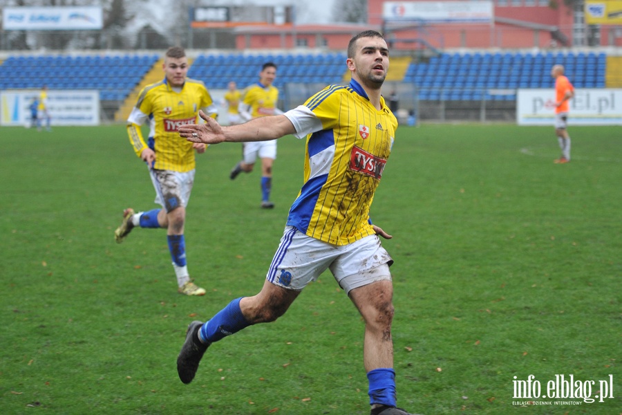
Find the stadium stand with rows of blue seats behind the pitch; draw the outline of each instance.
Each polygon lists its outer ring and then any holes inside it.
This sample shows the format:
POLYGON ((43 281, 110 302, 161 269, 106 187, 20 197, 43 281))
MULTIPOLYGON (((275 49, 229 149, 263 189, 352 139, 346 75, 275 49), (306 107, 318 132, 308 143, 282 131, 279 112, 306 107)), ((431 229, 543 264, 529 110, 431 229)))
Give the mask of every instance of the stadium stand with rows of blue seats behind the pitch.
MULTIPOLYGON (((277 87, 288 83, 340 84, 349 79, 345 60, 344 53, 213 53, 195 57, 188 75, 202 80, 209 89, 226 89, 229 81, 243 88, 257 82, 263 63, 274 62, 279 67, 274 82, 277 87)), ((551 88, 550 69, 554 64, 565 66, 576 88, 622 83, 621 58, 605 53, 473 51, 440 53, 427 62, 398 60, 391 81, 414 84, 420 100, 515 100, 518 88, 551 88)), ((39 89, 44 84, 50 89, 99 89, 103 101, 126 102, 131 107, 135 100, 132 93, 138 93, 145 82, 162 77, 158 62, 158 55, 10 56, 0 64, 0 89, 39 89)), ((126 113, 120 112, 122 116, 126 113)))

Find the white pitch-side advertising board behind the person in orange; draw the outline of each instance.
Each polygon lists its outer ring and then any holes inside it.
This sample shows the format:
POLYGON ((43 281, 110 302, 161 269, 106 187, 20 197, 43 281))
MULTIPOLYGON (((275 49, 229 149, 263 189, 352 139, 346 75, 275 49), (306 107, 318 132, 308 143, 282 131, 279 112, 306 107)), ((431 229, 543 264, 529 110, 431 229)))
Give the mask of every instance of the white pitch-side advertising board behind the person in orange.
MULTIPOLYGON (((554 89, 519 89, 518 125, 553 125, 554 89)), ((622 89, 575 89, 570 100, 569 125, 622 125, 622 89)))

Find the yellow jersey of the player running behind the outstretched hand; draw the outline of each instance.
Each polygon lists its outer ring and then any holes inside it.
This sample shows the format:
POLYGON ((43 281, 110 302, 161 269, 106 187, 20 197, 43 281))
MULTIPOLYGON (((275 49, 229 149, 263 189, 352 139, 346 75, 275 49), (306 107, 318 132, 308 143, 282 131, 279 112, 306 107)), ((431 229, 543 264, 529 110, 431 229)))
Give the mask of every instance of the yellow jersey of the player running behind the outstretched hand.
POLYGON ((147 85, 138 95, 138 102, 127 119, 129 140, 140 157, 149 147, 156 152, 154 169, 189 172, 196 166, 192 143, 179 136, 178 128, 196 124, 198 110, 216 114, 216 106, 205 84, 187 78, 180 92, 167 80, 147 85), (149 120, 149 140, 144 141, 140 126, 149 120))

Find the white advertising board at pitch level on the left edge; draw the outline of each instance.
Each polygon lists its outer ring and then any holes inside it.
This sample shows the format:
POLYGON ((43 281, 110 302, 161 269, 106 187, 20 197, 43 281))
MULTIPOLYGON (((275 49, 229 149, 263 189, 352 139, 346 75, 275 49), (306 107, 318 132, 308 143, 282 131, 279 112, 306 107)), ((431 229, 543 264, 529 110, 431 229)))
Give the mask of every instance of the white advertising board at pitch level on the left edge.
MULTIPOLYGON (((0 91, 0 125, 30 124, 30 104, 37 90, 0 91)), ((48 112, 52 125, 100 124, 100 93, 92 90, 48 91, 48 112)), ((45 121, 44 121, 45 124, 45 121)))

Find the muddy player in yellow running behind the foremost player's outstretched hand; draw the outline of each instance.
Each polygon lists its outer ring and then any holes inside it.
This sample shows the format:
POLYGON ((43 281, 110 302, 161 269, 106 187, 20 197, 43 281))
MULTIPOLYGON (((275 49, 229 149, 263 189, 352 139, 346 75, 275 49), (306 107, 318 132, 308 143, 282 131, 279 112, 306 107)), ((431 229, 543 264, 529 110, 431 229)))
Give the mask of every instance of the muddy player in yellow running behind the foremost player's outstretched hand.
POLYGON ((135 213, 127 208, 115 230, 121 243, 133 228, 165 228, 178 292, 204 295, 205 289, 192 282, 186 263, 184 225, 186 206, 194 183, 194 152, 205 152, 203 143, 180 138, 178 128, 197 122, 200 109, 216 116, 217 109, 203 82, 186 77, 188 59, 180 47, 169 48, 164 56, 164 80, 145 86, 127 120, 130 143, 147 167, 156 188, 156 203, 162 208, 135 213), (149 138, 144 140, 140 126, 149 122, 149 138))

